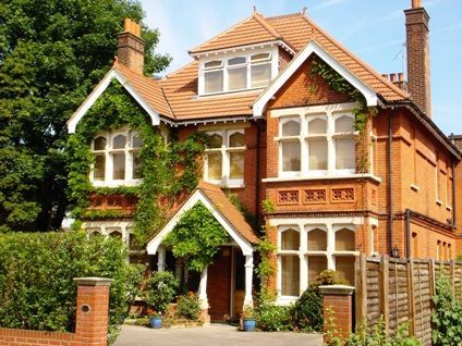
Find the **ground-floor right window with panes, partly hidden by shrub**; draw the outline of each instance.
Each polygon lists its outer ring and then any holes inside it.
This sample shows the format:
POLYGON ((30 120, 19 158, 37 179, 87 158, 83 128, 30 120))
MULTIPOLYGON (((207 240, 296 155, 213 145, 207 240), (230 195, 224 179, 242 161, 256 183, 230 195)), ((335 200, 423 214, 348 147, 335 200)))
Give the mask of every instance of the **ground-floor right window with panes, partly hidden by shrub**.
POLYGON ((358 255, 354 224, 343 224, 343 219, 333 218, 318 224, 313 224, 313 220, 299 220, 293 225, 283 224, 283 220, 277 222, 280 304, 294 301, 327 269, 338 271, 354 285, 354 262, 358 255))

